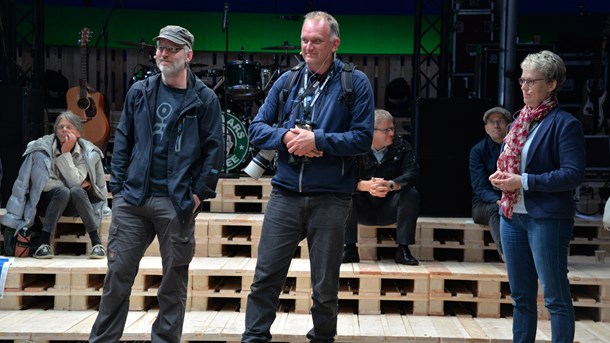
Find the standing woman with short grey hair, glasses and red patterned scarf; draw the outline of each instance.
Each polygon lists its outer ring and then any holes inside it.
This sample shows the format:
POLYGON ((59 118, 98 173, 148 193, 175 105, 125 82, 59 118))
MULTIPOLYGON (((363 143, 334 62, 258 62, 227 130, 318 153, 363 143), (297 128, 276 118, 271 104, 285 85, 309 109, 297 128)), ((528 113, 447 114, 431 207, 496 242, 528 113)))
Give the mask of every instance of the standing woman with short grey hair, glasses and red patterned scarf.
POLYGON ((568 281, 569 244, 581 185, 585 140, 580 121, 559 106, 566 67, 553 52, 521 62, 525 106, 504 138, 498 170, 489 180, 502 190, 500 234, 513 302, 513 341, 533 342, 538 281, 551 316, 552 341, 574 340, 568 281))

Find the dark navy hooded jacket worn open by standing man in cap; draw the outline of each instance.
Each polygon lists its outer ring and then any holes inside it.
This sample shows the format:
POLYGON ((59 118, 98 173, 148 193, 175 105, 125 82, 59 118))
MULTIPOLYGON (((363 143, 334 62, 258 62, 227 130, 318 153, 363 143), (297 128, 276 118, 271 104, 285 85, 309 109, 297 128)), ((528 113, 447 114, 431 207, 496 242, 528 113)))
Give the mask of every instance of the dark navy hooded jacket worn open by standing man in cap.
MULTIPOLYGON (((127 92, 114 137, 110 190, 140 206, 149 188, 152 160, 152 118, 161 74, 136 82, 127 92)), ((216 196, 223 164, 222 116, 214 92, 188 71, 184 106, 169 135, 167 188, 178 217, 185 222, 200 200, 216 196)))

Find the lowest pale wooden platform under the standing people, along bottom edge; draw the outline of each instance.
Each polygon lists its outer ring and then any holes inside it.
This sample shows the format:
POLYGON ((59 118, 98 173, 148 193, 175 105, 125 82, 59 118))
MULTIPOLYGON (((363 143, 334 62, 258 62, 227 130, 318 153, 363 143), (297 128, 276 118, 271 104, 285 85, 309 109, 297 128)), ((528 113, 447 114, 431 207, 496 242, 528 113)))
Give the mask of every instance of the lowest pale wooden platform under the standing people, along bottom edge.
MULTIPOLYGON (((88 339, 96 316, 95 311, 0 311, 0 339, 15 342, 83 341, 88 339)), ((130 311, 121 340, 150 341, 150 327, 156 316, 157 311, 130 311)), ((239 342, 244 318, 243 312, 187 312, 182 341, 239 342)), ((506 318, 339 313, 336 342, 507 342, 512 339, 511 327, 512 321, 506 318)), ((309 314, 278 312, 271 334, 274 341, 303 342, 310 328, 309 314)), ((576 342, 606 342, 608 337, 609 323, 576 323, 576 342)), ((548 321, 539 321, 536 341, 550 340, 548 321)))

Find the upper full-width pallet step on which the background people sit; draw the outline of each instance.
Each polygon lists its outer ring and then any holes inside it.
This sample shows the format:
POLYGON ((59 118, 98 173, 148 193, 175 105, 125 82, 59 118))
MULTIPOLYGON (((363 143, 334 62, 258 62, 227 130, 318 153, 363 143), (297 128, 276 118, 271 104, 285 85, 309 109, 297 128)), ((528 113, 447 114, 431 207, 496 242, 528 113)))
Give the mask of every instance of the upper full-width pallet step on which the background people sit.
MULTIPOLYGON (((231 182, 233 187, 237 187, 237 184, 246 181, 238 179, 231 182)), ((262 189, 264 186, 258 187, 262 189)), ((5 209, 0 209, 0 216, 5 212, 5 209)), ((195 256, 256 257, 263 220, 263 213, 200 213, 195 222, 195 256)), ((100 237, 104 244, 107 242, 110 222, 110 217, 104 217, 100 227, 100 237)), ((392 259, 396 252, 396 225, 358 225, 358 237, 362 261, 392 259)), ((81 219, 61 217, 52 246, 58 254, 86 255, 91 250, 91 244, 81 219)), ((420 217, 415 244, 409 248, 420 261, 500 261, 489 228, 475 224, 472 218, 420 217)), ((593 256, 598 249, 610 251, 610 231, 604 230, 601 218, 592 220, 577 217, 574 238, 570 242, 570 256, 593 256)), ((146 255, 159 255, 158 241, 153 242, 146 255)), ((296 257, 308 257, 305 241, 301 242, 296 257)))

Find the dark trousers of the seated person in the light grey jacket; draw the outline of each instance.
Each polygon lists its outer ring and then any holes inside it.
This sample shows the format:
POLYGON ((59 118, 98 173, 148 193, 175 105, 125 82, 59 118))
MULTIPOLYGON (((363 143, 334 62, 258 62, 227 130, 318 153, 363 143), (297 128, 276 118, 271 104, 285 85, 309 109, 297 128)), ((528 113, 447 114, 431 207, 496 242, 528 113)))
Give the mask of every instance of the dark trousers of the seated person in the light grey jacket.
POLYGON ((42 192, 37 206, 38 214, 44 216, 42 231, 52 235, 61 216, 79 216, 87 232, 97 231, 93 206, 87 191, 78 187, 57 187, 42 192))

